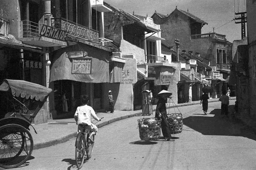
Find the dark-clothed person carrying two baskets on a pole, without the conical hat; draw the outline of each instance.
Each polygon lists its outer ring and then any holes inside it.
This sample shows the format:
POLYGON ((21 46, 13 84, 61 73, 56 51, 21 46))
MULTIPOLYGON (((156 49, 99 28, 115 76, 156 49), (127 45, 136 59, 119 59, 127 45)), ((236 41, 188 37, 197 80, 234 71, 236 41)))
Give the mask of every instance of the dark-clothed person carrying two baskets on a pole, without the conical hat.
POLYGON ((166 112, 166 105, 165 105, 165 101, 167 97, 165 95, 158 95, 158 96, 160 97, 160 99, 158 99, 158 102, 156 105, 155 118, 158 120, 160 120, 160 118, 162 119, 161 129, 162 129, 164 139, 166 139, 167 141, 174 141, 174 139, 172 139, 172 135, 169 129, 169 124, 167 122, 167 112, 166 112))

